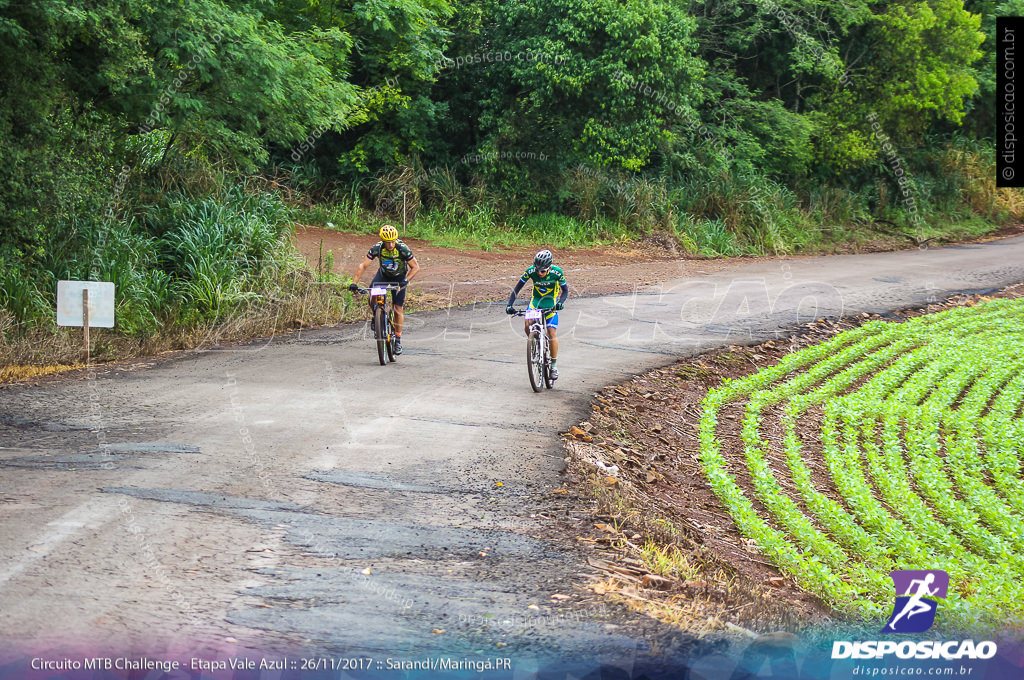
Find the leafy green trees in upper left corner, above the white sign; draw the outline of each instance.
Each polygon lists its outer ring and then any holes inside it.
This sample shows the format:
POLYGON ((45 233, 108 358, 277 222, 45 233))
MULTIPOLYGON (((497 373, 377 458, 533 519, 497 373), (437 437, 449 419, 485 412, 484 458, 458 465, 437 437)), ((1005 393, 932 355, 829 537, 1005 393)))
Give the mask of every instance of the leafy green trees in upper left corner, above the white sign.
MULTIPOLYGON (((270 143, 344 129, 356 87, 338 28, 288 30, 216 0, 0 2, 0 257, 117 203, 123 164, 175 144, 255 169, 270 143)), ((10 266, 13 266, 11 264, 10 266)))

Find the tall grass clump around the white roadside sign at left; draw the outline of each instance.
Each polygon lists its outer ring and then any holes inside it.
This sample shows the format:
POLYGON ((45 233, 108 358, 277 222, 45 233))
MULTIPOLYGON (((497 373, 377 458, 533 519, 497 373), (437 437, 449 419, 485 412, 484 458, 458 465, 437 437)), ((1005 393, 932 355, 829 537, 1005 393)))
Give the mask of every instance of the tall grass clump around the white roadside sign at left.
POLYGON ((205 196, 172 192, 115 219, 58 225, 35 267, 0 269, 0 363, 36 360, 33 344, 49 337, 44 354, 73 358, 74 345, 54 325, 56 282, 65 279, 114 282, 111 337, 122 353, 161 336, 201 336, 227 318, 245 326, 264 296, 278 304, 296 286, 301 298, 307 284, 296 280, 292 212, 279 196, 236 184, 205 196))

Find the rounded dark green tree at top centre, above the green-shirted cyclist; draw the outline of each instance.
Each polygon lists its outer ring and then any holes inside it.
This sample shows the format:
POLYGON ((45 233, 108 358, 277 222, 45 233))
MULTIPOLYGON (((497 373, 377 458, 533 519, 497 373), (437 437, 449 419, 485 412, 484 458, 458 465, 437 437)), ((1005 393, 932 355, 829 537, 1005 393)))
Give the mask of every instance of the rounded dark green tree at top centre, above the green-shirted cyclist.
POLYGON ((470 62, 452 67, 450 77, 479 101, 468 151, 488 159, 474 171, 499 192, 521 196, 536 175, 579 164, 639 170, 674 144, 692 117, 702 66, 694 56, 695 23, 680 5, 482 6, 488 23, 464 46, 468 53, 455 57, 470 62), (552 161, 500 160, 508 151, 543 151, 552 161))

